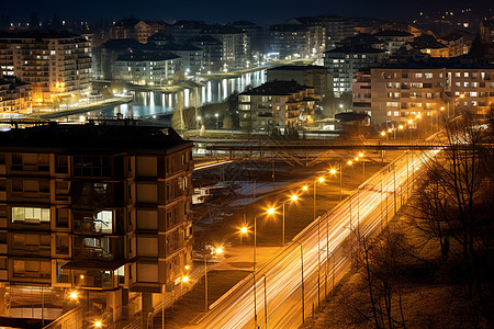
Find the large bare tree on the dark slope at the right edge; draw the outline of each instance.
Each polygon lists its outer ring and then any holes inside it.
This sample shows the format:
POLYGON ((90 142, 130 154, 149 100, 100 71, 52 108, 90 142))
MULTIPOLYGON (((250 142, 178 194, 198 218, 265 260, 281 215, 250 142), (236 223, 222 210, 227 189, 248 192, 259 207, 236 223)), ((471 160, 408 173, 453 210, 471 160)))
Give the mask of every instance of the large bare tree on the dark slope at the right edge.
POLYGON ((492 126, 470 112, 444 121, 444 126, 437 137, 441 150, 424 163, 426 174, 413 202, 412 224, 439 241, 442 261, 453 252, 461 257, 468 298, 494 326, 492 126))

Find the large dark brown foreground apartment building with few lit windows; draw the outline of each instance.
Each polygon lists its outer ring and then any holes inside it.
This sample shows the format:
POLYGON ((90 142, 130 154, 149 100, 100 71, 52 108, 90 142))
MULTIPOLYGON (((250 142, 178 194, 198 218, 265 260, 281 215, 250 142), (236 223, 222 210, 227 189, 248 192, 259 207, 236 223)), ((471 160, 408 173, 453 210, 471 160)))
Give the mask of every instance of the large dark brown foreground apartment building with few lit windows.
POLYGON ((132 122, 1 132, 5 316, 44 287, 46 315, 77 291, 89 320, 145 317, 191 261, 191 149, 171 128, 132 122))

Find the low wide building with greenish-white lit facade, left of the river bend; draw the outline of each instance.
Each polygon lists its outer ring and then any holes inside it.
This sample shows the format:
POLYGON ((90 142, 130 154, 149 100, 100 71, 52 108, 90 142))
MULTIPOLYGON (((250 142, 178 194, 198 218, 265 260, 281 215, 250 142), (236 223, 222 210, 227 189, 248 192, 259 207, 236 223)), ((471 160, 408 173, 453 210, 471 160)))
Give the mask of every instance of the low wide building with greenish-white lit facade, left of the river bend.
POLYGON ((135 84, 159 84, 171 80, 180 57, 169 52, 132 53, 116 58, 113 79, 135 84))

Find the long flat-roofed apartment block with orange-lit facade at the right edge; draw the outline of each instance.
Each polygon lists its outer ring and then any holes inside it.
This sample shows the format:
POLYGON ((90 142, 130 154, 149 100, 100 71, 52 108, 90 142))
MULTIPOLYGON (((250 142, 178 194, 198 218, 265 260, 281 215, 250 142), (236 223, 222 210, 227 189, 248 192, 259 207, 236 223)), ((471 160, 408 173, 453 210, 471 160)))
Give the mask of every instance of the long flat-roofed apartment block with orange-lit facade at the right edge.
MULTIPOLYGON (((353 86, 353 105, 370 102, 373 123, 406 122, 420 114, 434 121, 441 107, 446 114, 473 110, 485 114, 494 107, 494 65, 459 61, 389 64, 370 69, 369 77, 353 86), (370 88, 361 92, 362 86, 370 88), (359 97, 360 94, 360 97, 359 97)), ((359 76, 357 76, 357 81, 359 76)))

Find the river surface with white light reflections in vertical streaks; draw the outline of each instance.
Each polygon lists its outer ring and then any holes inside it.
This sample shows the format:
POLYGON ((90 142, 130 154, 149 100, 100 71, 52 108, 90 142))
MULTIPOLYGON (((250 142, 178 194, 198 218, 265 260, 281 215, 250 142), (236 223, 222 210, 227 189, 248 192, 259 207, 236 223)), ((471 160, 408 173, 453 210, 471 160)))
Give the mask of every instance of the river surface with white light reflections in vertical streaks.
POLYGON ((173 109, 201 106, 206 103, 218 103, 234 91, 243 92, 249 84, 258 87, 266 81, 266 70, 244 73, 229 79, 213 79, 204 82, 204 87, 186 89, 178 93, 135 92, 134 101, 114 107, 92 111, 91 115, 117 114, 124 117, 171 114, 173 109))

